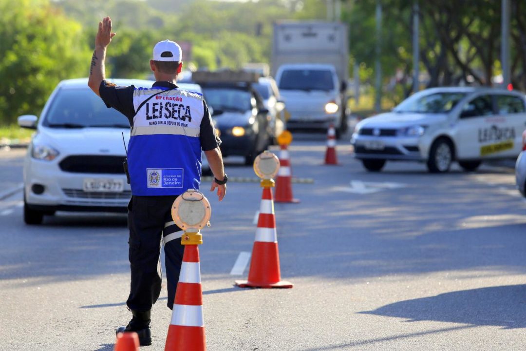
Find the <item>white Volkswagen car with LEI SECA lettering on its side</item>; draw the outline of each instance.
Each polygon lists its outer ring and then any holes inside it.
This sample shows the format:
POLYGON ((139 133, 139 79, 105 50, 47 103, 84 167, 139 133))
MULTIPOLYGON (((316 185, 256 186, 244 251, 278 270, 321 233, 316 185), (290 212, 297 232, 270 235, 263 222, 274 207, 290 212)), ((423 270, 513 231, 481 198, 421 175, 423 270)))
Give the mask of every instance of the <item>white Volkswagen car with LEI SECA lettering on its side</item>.
POLYGON ((441 87, 418 92, 392 112, 366 118, 351 138, 368 171, 386 161, 426 162, 430 172, 458 161, 474 171, 486 159, 515 158, 526 125, 524 94, 498 88, 441 87))

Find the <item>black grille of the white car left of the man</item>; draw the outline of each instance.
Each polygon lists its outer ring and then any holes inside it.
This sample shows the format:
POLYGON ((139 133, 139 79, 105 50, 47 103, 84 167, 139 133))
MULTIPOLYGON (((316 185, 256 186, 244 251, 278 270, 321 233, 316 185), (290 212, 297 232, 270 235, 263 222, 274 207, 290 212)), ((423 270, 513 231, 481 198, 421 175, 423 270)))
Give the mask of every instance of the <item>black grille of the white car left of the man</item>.
POLYGON ((60 169, 72 173, 124 174, 125 156, 68 156, 60 161, 60 169))

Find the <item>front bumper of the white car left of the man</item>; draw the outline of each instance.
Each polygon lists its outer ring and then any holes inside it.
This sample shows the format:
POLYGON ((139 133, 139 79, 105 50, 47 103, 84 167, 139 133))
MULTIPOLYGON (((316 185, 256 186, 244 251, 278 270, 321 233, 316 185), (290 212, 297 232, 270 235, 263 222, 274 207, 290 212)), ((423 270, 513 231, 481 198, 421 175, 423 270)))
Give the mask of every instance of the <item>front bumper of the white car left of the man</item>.
POLYGON ((42 210, 100 211, 126 209, 131 188, 124 174, 93 174, 64 172, 53 162, 26 159, 24 166, 24 195, 29 208, 42 210), (123 182, 123 192, 98 193, 83 190, 84 179, 115 179, 123 182), (33 185, 42 185, 37 194, 33 185))

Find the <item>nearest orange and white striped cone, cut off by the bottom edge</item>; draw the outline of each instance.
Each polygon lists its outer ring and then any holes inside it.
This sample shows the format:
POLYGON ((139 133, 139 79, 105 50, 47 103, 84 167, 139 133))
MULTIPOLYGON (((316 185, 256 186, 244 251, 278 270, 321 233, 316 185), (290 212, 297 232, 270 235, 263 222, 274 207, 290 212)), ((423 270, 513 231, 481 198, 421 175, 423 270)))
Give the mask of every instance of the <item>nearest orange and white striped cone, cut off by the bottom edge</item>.
MULTIPOLYGON (((189 233, 185 233, 187 235, 189 233)), ((191 235, 192 233, 190 233, 191 235)), ((194 233, 195 234, 195 233, 194 233)), ((203 288, 197 245, 186 245, 165 351, 205 351, 203 288)))

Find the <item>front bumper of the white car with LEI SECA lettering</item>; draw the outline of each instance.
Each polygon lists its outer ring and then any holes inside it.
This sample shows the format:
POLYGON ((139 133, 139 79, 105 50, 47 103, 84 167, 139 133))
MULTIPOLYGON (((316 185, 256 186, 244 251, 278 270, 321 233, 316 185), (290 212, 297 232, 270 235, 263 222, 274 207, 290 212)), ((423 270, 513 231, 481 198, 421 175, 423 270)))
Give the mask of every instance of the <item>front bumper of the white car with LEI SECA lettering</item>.
POLYGON ((420 138, 376 137, 354 134, 351 145, 355 158, 376 158, 390 161, 426 161, 425 150, 420 138))

